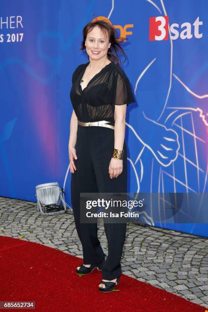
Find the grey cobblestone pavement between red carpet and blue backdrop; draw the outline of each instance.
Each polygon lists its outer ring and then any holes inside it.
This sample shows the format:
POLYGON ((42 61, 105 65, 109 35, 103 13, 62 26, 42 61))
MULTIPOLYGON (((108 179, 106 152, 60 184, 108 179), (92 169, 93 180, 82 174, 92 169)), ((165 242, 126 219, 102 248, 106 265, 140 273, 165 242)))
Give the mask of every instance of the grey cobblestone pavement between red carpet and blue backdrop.
MULTIPOLYGON (((0 197, 0 235, 21 238, 82 258, 82 245, 68 211, 42 216, 37 204, 0 197)), ((108 254, 103 221, 98 236, 108 254)), ((153 226, 128 223, 122 272, 208 307, 208 239, 153 226)))

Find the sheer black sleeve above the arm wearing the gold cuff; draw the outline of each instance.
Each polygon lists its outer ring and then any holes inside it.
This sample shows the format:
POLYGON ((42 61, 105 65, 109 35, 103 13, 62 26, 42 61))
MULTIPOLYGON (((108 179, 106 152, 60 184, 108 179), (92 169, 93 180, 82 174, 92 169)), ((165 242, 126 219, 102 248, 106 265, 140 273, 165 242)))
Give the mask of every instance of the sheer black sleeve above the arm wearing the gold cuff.
POLYGON ((116 94, 115 94, 115 105, 126 104, 135 102, 135 97, 132 92, 132 88, 128 77, 126 75, 121 75, 118 73, 117 84, 116 84, 116 94))

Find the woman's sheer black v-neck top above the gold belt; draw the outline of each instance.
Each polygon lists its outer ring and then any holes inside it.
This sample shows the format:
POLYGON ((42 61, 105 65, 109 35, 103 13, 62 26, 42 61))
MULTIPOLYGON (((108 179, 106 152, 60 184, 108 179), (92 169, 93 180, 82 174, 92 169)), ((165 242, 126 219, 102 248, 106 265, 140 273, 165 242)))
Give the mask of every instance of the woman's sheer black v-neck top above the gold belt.
POLYGON ((125 72, 114 62, 107 64, 82 90, 81 79, 90 62, 77 66, 72 74, 70 99, 78 120, 107 120, 114 124, 115 105, 128 106, 135 97, 125 72))

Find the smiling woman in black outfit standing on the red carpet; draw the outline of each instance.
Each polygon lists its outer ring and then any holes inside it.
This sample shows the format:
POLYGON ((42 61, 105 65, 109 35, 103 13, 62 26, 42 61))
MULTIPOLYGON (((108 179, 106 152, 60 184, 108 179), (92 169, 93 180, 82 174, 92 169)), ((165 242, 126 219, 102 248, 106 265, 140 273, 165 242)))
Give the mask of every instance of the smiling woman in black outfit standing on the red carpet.
POLYGON ((82 50, 85 48, 90 61, 76 67, 70 91, 71 203, 84 260, 76 272, 85 275, 95 268, 102 270, 99 290, 110 292, 121 275, 126 223, 104 223, 109 251, 105 259, 97 224, 80 222, 80 193, 127 192, 125 114, 135 98, 119 66, 117 52, 125 54, 113 26, 104 20, 85 25, 82 50))

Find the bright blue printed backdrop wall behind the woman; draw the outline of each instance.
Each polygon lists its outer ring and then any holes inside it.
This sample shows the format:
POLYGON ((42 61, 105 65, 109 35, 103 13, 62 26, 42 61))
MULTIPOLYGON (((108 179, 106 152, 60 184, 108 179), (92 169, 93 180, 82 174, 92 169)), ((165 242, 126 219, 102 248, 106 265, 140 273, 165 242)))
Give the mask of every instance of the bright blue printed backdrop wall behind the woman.
MULTIPOLYGON (((128 192, 207 192, 207 10, 206 0, 1 0, 0 195, 36 201, 36 185, 65 180, 70 205, 71 76, 98 16, 128 38, 128 192)), ((155 223, 160 209, 142 221, 208 237, 207 223, 186 216, 155 223)), ((207 220, 205 205, 192 209, 207 220)))

